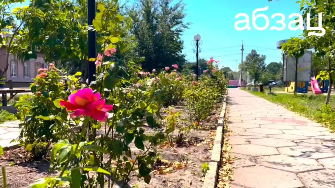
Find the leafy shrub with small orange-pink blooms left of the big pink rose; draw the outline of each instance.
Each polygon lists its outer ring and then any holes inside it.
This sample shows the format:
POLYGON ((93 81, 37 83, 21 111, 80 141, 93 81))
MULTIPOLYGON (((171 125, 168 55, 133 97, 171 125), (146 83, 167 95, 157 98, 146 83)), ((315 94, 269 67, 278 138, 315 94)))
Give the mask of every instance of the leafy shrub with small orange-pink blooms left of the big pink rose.
POLYGON ((18 108, 16 117, 21 122, 17 140, 28 151, 33 151, 35 157, 44 155, 52 139, 57 140, 54 133, 62 132, 60 134, 64 138, 69 128, 69 124, 64 124, 68 122, 66 110, 57 108, 54 103, 56 99, 64 99, 68 95, 60 70, 51 68, 50 71, 39 71, 40 74, 30 85, 33 95, 23 95, 15 104, 18 108))

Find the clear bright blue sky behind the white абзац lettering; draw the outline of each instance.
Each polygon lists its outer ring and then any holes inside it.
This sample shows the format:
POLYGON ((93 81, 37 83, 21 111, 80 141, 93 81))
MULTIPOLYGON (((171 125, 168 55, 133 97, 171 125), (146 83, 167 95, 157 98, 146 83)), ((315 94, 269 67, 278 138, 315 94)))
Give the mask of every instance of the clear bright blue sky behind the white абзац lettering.
MULTIPOLYGON (((28 0, 23 5, 28 5, 28 0)), ((184 0, 186 4, 185 13, 187 14, 185 22, 191 25, 187 29, 182 39, 184 40, 183 53, 186 59, 194 62, 196 60, 193 52, 194 45, 191 44, 195 34, 201 35, 202 44, 200 46, 200 58, 209 59, 213 56, 219 60, 219 67, 228 66, 232 70, 241 62, 241 44, 244 41, 244 57, 255 49, 258 53, 266 55, 266 63, 281 61, 281 51, 276 49, 278 40, 288 39, 292 36, 298 36, 301 30, 291 31, 288 29, 288 23, 294 18, 288 19, 292 13, 299 13, 299 4, 293 0, 279 0, 268 2, 267 0, 184 0), (252 26, 252 12, 256 8, 269 9, 264 12, 270 18, 270 26, 264 31, 258 31, 252 26), (250 17, 251 30, 237 31, 234 24, 243 17, 235 19, 238 13, 246 13, 250 17), (278 26, 276 21, 279 17, 271 19, 272 14, 282 13, 285 15, 286 28, 282 31, 270 30, 271 26, 278 26)), ((21 6, 19 4, 15 6, 21 6)), ((257 19, 259 27, 264 26, 263 18, 257 19)), ((243 27, 244 25, 239 25, 243 27)))

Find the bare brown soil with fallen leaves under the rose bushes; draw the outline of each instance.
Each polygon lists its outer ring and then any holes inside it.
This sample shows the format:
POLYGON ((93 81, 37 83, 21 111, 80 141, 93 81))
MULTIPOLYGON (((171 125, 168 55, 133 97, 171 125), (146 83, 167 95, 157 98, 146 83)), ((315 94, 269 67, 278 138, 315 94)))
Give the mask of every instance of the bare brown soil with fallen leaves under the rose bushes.
MULTIPOLYGON (((184 135, 181 144, 166 143, 156 148, 160 160, 153 167, 150 184, 146 184, 143 178, 137 178, 137 172, 132 172, 129 185, 125 187, 138 188, 199 188, 203 184, 201 165, 209 162, 213 140, 215 137, 216 123, 219 117, 221 104, 213 108, 213 113, 207 120, 200 122, 201 129, 193 130, 184 135)), ((162 109, 162 117, 168 116, 168 109, 162 109)), ((187 110, 183 106, 176 106, 175 112, 183 111, 182 119, 187 118, 187 110)), ((161 122, 164 124, 164 122, 161 122)), ((146 124, 144 124, 146 125, 146 124)), ((145 133, 153 132, 148 126, 143 127, 145 133)), ((101 129, 104 130, 104 127, 101 129)), ((177 135, 178 130, 175 131, 177 135)), ((133 156, 140 154, 134 143, 130 145, 133 156)), ((50 159, 35 161, 24 148, 5 151, 0 156, 0 166, 6 167, 7 188, 26 188, 35 180, 43 177, 56 176, 57 172, 49 172, 50 159)), ((2 176, 0 176, 2 178, 2 176)), ((0 188, 2 181, 0 181, 0 188)), ((122 184, 121 184, 122 185, 122 184)))

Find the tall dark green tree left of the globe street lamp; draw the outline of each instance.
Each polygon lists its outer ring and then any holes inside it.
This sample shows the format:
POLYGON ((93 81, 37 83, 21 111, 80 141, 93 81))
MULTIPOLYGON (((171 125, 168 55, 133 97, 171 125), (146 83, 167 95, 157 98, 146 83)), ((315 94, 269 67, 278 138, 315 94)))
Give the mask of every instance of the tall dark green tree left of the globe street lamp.
POLYGON ((133 33, 138 43, 138 53, 145 57, 142 67, 146 70, 164 68, 172 64, 182 66, 184 42, 184 4, 172 0, 139 0, 129 11, 133 19, 133 33))

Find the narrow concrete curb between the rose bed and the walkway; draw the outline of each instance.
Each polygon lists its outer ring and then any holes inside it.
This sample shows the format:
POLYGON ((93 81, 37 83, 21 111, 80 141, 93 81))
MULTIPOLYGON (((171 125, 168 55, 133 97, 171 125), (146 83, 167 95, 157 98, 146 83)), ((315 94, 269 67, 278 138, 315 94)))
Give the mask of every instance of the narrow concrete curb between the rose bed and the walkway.
POLYGON ((219 116, 219 120, 217 121, 217 128, 212 150, 212 156, 210 162, 208 163, 209 170, 206 173, 202 188, 216 188, 217 174, 221 161, 221 151, 222 151, 221 147, 224 132, 223 126, 224 126, 224 118, 226 115, 226 100, 227 100, 227 93, 223 97, 223 105, 219 116))

